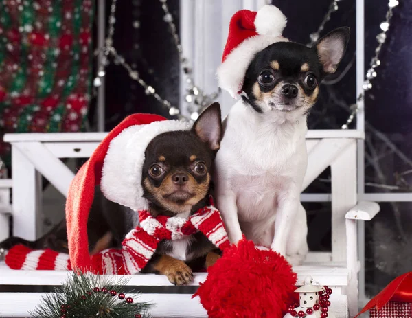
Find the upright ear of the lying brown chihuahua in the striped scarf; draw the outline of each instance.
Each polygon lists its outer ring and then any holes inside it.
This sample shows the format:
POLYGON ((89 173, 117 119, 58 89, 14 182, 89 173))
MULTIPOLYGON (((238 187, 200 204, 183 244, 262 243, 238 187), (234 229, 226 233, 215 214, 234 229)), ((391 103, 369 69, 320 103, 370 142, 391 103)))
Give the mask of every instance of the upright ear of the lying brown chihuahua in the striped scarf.
POLYGON ((194 122, 192 128, 201 141, 207 143, 209 148, 214 151, 220 148, 222 130, 222 114, 218 102, 207 107, 194 122))

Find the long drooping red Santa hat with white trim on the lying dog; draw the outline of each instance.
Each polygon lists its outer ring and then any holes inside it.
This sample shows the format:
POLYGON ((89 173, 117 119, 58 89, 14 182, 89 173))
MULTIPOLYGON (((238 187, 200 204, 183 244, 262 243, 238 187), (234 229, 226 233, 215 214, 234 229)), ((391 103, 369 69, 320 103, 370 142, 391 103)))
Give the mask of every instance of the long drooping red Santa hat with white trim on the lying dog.
POLYGON ((135 211, 148 208, 143 198, 141 170, 144 152, 157 135, 189 130, 190 124, 159 115, 135 114, 116 126, 76 174, 66 201, 67 238, 73 269, 91 268, 87 220, 95 185, 109 200, 135 211))

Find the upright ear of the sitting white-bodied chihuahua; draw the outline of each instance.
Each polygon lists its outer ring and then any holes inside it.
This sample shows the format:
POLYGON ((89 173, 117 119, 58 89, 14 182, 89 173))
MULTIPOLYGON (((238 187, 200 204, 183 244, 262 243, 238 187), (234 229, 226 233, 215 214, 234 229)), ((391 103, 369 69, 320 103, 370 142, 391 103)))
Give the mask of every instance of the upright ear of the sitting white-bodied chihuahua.
POLYGON ((323 65, 323 71, 332 74, 338 68, 345 54, 347 42, 350 38, 349 27, 339 27, 326 34, 316 43, 319 60, 323 65))

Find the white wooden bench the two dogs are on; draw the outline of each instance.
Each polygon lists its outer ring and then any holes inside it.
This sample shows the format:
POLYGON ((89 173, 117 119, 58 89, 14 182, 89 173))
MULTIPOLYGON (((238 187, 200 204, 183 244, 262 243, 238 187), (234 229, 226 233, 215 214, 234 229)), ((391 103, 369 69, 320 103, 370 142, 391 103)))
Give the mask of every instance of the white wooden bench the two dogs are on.
MULTIPOLYGON (((104 136, 106 133, 5 135, 5 141, 12 144, 14 235, 34 240, 40 233, 41 175, 66 195, 74 174, 60 158, 89 157, 104 136)), ((311 275, 321 284, 334 289, 331 311, 339 318, 347 317, 348 308, 350 317, 358 310, 356 220, 370 220, 379 211, 376 203, 357 205, 356 141, 363 137, 363 132, 359 130, 310 130, 307 135, 308 171, 302 190, 325 168, 331 168, 332 251, 310 252, 305 266, 295 267, 294 270, 299 275, 298 284, 302 284, 306 275, 311 275)), ((66 275, 65 272, 11 271, 4 264, 0 265, 0 285, 21 285, 25 288, 56 286, 65 280, 66 275)), ((203 280, 205 274, 196 274, 192 286, 203 280)), ((128 284, 171 286, 165 277, 155 275, 135 275, 128 284)), ((187 288, 192 293, 193 287, 187 288)), ((145 293, 141 299, 156 303, 155 317, 207 317, 198 299, 190 299, 190 293, 145 293)), ((34 308, 40 297, 41 293, 1 293, 0 313, 25 317, 27 310, 34 308), (17 299, 22 299, 21 306, 16 303, 17 299)))

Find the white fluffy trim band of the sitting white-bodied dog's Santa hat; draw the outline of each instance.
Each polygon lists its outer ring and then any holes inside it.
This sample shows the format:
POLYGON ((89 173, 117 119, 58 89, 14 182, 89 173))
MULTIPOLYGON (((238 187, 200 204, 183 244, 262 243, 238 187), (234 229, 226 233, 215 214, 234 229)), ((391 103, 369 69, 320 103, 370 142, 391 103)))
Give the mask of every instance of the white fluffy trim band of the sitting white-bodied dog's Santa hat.
POLYGON ((219 87, 227 90, 233 98, 238 98, 244 75, 255 55, 273 43, 287 41, 287 38, 271 35, 252 36, 244 40, 218 67, 219 87))

